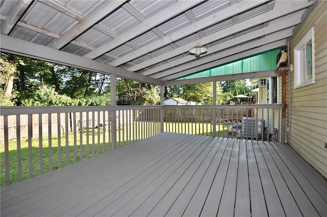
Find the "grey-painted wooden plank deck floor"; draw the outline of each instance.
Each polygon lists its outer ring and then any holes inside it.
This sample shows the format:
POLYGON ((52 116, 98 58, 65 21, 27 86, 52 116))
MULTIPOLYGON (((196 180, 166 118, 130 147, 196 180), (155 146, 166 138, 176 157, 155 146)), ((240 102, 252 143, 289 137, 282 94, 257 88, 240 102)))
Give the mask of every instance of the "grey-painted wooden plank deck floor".
POLYGON ((1 216, 326 216, 287 144, 161 133, 1 188, 1 216))

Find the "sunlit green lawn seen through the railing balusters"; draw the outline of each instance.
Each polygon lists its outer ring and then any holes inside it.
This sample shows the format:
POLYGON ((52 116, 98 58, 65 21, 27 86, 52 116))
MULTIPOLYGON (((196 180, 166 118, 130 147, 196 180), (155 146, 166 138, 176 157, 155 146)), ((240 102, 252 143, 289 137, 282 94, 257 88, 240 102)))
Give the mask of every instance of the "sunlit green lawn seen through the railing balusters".
MULTIPOLYGON (((136 140, 146 138, 151 133, 150 130, 153 130, 154 126, 149 125, 148 123, 142 125, 133 125, 132 127, 127 128, 124 127, 125 131, 117 130, 117 147, 125 146, 128 143, 132 143, 136 140), (142 129, 148 129, 148 131, 143 134, 138 133, 141 132, 142 129)), ((222 126, 217 125, 217 136, 223 135, 223 132, 227 132, 225 128, 223 130, 222 126)), ((188 134, 197 134, 197 135, 208 135, 212 136, 212 125, 210 123, 199 124, 199 123, 164 123, 164 131, 165 132, 176 132, 176 133, 188 133, 188 134)), ((40 175, 40 171, 42 173, 49 172, 50 170, 56 170, 59 167, 64 167, 67 164, 73 164, 74 162, 79 162, 85 160, 87 158, 91 158, 93 156, 103 154, 104 152, 108 152, 110 149, 109 144, 109 133, 106 131, 105 133, 105 142, 103 141, 103 129, 100 130, 95 129, 82 131, 82 142, 80 141, 80 132, 77 132, 76 138, 74 138, 74 134, 61 135, 61 147, 58 147, 58 136, 52 136, 51 138, 51 148, 49 148, 49 137, 42 137, 42 166, 40 167, 40 149, 39 149, 39 138, 32 138, 31 144, 31 156, 32 162, 29 161, 29 141, 26 138, 20 139, 20 155, 21 155, 21 180, 25 180, 30 178, 30 176, 38 176, 40 175), (94 141, 92 140, 92 135, 94 136, 94 141), (98 136, 100 135, 100 136, 98 136), (76 139, 76 145, 75 144, 76 139), (66 144, 67 141, 67 144, 66 144), (87 142, 88 141, 88 142, 87 142), (81 144, 82 143, 82 144, 81 144), (82 152, 81 152, 82 146, 82 152), (76 152, 74 152, 76 150, 76 152), (76 154, 74 154, 76 153, 76 154), (52 157, 50 158, 50 154, 52 157), (67 156, 66 156, 67 154, 67 156), (31 165, 30 165, 31 164, 31 165), (30 175, 30 166, 33 168, 33 174, 30 175)), ((111 147, 112 149, 112 147, 111 147)), ((11 139, 9 140, 9 174, 10 174, 10 183, 18 182, 18 157, 17 157, 17 140, 11 139)), ((0 184, 1 187, 6 185, 6 177, 5 177, 5 148, 4 142, 0 143, 0 184)))

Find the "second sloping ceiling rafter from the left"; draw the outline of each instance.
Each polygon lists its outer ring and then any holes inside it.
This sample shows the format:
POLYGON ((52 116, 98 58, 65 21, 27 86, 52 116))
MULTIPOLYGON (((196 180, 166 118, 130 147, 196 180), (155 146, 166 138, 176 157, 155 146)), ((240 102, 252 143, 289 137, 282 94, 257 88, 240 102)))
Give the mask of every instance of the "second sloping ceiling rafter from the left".
POLYGON ((97 22, 109 16, 125 2, 126 1, 104 1, 100 6, 98 6, 95 10, 90 12, 81 21, 79 21, 74 27, 60 36, 60 38, 54 40, 50 44, 50 47, 54 49, 61 49, 67 43, 71 42, 80 34, 82 34, 84 31, 94 26, 97 22))

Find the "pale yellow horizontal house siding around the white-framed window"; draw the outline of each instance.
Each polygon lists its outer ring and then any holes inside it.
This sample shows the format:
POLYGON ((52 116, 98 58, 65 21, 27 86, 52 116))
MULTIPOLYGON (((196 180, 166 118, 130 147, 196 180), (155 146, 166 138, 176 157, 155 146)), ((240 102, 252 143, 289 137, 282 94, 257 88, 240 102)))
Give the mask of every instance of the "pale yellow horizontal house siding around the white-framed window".
MULTIPOLYGON (((327 2, 320 1, 290 41, 290 63, 294 47, 315 26, 315 84, 294 89, 294 71, 290 73, 291 131, 287 142, 327 178, 327 2)), ((289 92, 287 93, 289 94, 289 92)))

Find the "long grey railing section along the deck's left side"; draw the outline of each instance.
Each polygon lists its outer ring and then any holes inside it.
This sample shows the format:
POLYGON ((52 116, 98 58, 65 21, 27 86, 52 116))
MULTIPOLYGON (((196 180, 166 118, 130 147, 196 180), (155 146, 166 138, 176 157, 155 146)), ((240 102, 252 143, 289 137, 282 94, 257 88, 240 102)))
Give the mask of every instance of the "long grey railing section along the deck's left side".
POLYGON ((160 109, 162 106, 2 107, 1 185, 156 135, 161 132, 160 109), (27 123, 21 124, 25 119, 27 123))

